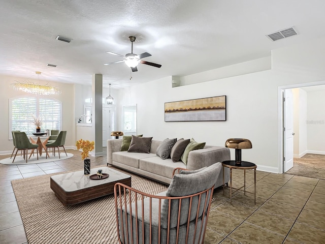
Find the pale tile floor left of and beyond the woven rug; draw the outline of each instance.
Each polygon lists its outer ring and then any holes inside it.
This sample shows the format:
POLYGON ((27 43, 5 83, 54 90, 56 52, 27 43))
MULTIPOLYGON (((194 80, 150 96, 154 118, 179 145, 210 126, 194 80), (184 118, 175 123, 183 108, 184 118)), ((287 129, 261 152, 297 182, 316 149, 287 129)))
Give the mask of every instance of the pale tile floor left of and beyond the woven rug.
MULTIPOLYGON (((106 165, 106 147, 103 157, 91 157, 91 167, 106 165)), ((21 244, 28 243, 25 229, 19 214, 16 198, 11 186, 11 180, 34 177, 44 174, 82 170, 83 160, 81 152, 67 149, 67 153, 74 154, 70 159, 42 164, 3 165, 0 164, 0 243, 21 244)), ((0 155, 0 160, 10 155, 0 155)), ((18 156, 17 156, 18 157, 18 156)), ((49 243, 54 244, 54 243, 49 243)))

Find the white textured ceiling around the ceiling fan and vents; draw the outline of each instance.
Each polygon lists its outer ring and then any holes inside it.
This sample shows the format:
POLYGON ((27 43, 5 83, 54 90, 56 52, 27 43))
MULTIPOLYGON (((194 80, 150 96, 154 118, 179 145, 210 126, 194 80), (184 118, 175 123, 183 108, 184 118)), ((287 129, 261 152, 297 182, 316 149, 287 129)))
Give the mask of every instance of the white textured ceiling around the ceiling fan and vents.
POLYGON ((103 74, 113 88, 170 75, 184 76, 271 54, 272 49, 325 36, 325 1, 297 0, 2 0, 0 73, 91 84, 103 74), (297 36, 266 35, 294 26, 297 36), (60 35, 71 43, 57 41, 60 35), (131 52, 149 52, 130 80, 123 64, 104 66, 131 52), (56 68, 46 64, 57 65, 56 68))

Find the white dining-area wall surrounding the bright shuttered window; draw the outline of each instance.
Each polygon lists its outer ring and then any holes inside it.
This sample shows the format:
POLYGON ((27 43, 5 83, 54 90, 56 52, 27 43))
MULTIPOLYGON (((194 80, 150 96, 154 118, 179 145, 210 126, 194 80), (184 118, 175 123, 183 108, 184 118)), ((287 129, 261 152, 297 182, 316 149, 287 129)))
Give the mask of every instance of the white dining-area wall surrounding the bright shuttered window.
MULTIPOLYGON (((9 128, 9 99, 15 98, 21 95, 26 95, 26 93, 19 92, 12 89, 11 84, 15 81, 25 81, 26 79, 14 76, 0 75, 1 89, 0 89, 0 114, 1 114, 1 127, 0 130, 0 152, 10 153, 13 150, 13 143, 9 141, 9 133, 11 133, 11 128, 9 128)), ((49 81, 34 81, 40 82, 40 84, 47 84, 57 86, 62 90, 62 94, 53 96, 52 98, 60 101, 62 103, 62 130, 67 131, 66 146, 69 147, 75 144, 75 128, 74 128, 74 107, 75 107, 75 89, 73 84, 49 82, 49 81)), ((46 129, 46 128, 44 128, 46 129)))

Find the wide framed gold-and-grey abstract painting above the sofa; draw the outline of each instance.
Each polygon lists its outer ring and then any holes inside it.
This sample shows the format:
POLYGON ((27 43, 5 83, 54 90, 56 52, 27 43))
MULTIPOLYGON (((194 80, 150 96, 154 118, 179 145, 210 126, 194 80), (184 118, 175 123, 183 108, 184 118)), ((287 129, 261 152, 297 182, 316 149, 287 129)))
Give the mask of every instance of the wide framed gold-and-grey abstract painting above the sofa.
POLYGON ((226 96, 165 103, 165 121, 225 121, 226 96))

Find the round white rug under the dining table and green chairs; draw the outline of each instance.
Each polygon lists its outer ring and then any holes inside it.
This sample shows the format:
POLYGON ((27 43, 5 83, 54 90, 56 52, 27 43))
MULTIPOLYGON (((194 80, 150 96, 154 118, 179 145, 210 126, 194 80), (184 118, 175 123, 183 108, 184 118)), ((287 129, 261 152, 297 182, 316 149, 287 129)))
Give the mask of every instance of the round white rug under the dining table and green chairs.
MULTIPOLYGON (((24 157, 20 156, 20 153, 19 155, 17 154, 16 158, 15 158, 15 161, 13 161, 14 159, 14 156, 12 158, 7 158, 7 159, 3 159, 3 160, 0 160, 0 164, 40 164, 40 163, 48 163, 48 162, 55 162, 55 161, 59 161, 59 160, 64 160, 64 159, 69 159, 71 157, 73 157, 74 155, 73 154, 68 154, 68 156, 66 156, 66 153, 60 153, 60 159, 59 159, 59 156, 58 154, 56 153, 55 154, 55 157, 53 155, 50 155, 50 158, 47 158, 46 159, 46 154, 43 153, 42 156, 39 156, 39 159, 37 160, 37 156, 35 154, 35 156, 31 156, 30 159, 27 160, 27 163, 26 163, 26 160, 24 159, 24 157)), ((29 155, 28 155, 29 157, 29 155)))

